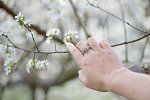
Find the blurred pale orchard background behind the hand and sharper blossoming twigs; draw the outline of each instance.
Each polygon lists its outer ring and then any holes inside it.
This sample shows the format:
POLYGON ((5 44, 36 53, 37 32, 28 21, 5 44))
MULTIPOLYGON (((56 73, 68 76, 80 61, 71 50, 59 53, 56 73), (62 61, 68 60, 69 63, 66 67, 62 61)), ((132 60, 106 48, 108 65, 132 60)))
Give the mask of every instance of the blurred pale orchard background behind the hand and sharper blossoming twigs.
MULTIPOLYGON (((65 51, 65 32, 77 31, 81 40, 88 37, 98 42, 106 39, 112 45, 137 39, 150 30, 150 0, 0 0, 0 27, 7 27, 9 39, 18 47, 36 50, 28 31, 18 27, 14 16, 21 12, 32 21, 32 32, 43 52, 55 51, 54 42, 45 43, 49 29, 58 28, 56 38, 58 51, 65 51), (122 19, 114 17, 117 16, 122 19), (126 21, 126 22, 123 22, 126 21), (130 23, 133 25, 127 25, 130 23), (138 29, 136 29, 138 28, 138 29)), ((1 43, 8 41, 0 37, 1 43)), ((149 37, 128 45, 116 46, 114 50, 127 65, 150 62, 149 37)), ((16 50, 16 58, 23 51, 16 50)), ((49 54, 47 70, 33 69, 26 72, 26 63, 33 53, 25 52, 11 75, 4 71, 5 57, 0 53, 0 100, 127 100, 115 93, 88 89, 78 80, 78 65, 69 53, 49 54)), ((36 54, 44 59, 45 54, 36 54)), ((128 67, 128 66, 127 66, 128 67)))

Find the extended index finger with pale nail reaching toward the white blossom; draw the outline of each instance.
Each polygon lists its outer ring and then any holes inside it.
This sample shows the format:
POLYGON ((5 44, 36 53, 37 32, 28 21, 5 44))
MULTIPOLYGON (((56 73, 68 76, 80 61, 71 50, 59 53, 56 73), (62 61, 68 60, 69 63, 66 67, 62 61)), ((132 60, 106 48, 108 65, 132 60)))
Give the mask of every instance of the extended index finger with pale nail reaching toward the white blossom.
POLYGON ((83 55, 72 43, 66 43, 66 47, 69 52, 72 54, 73 58, 77 61, 78 64, 81 63, 83 55))

